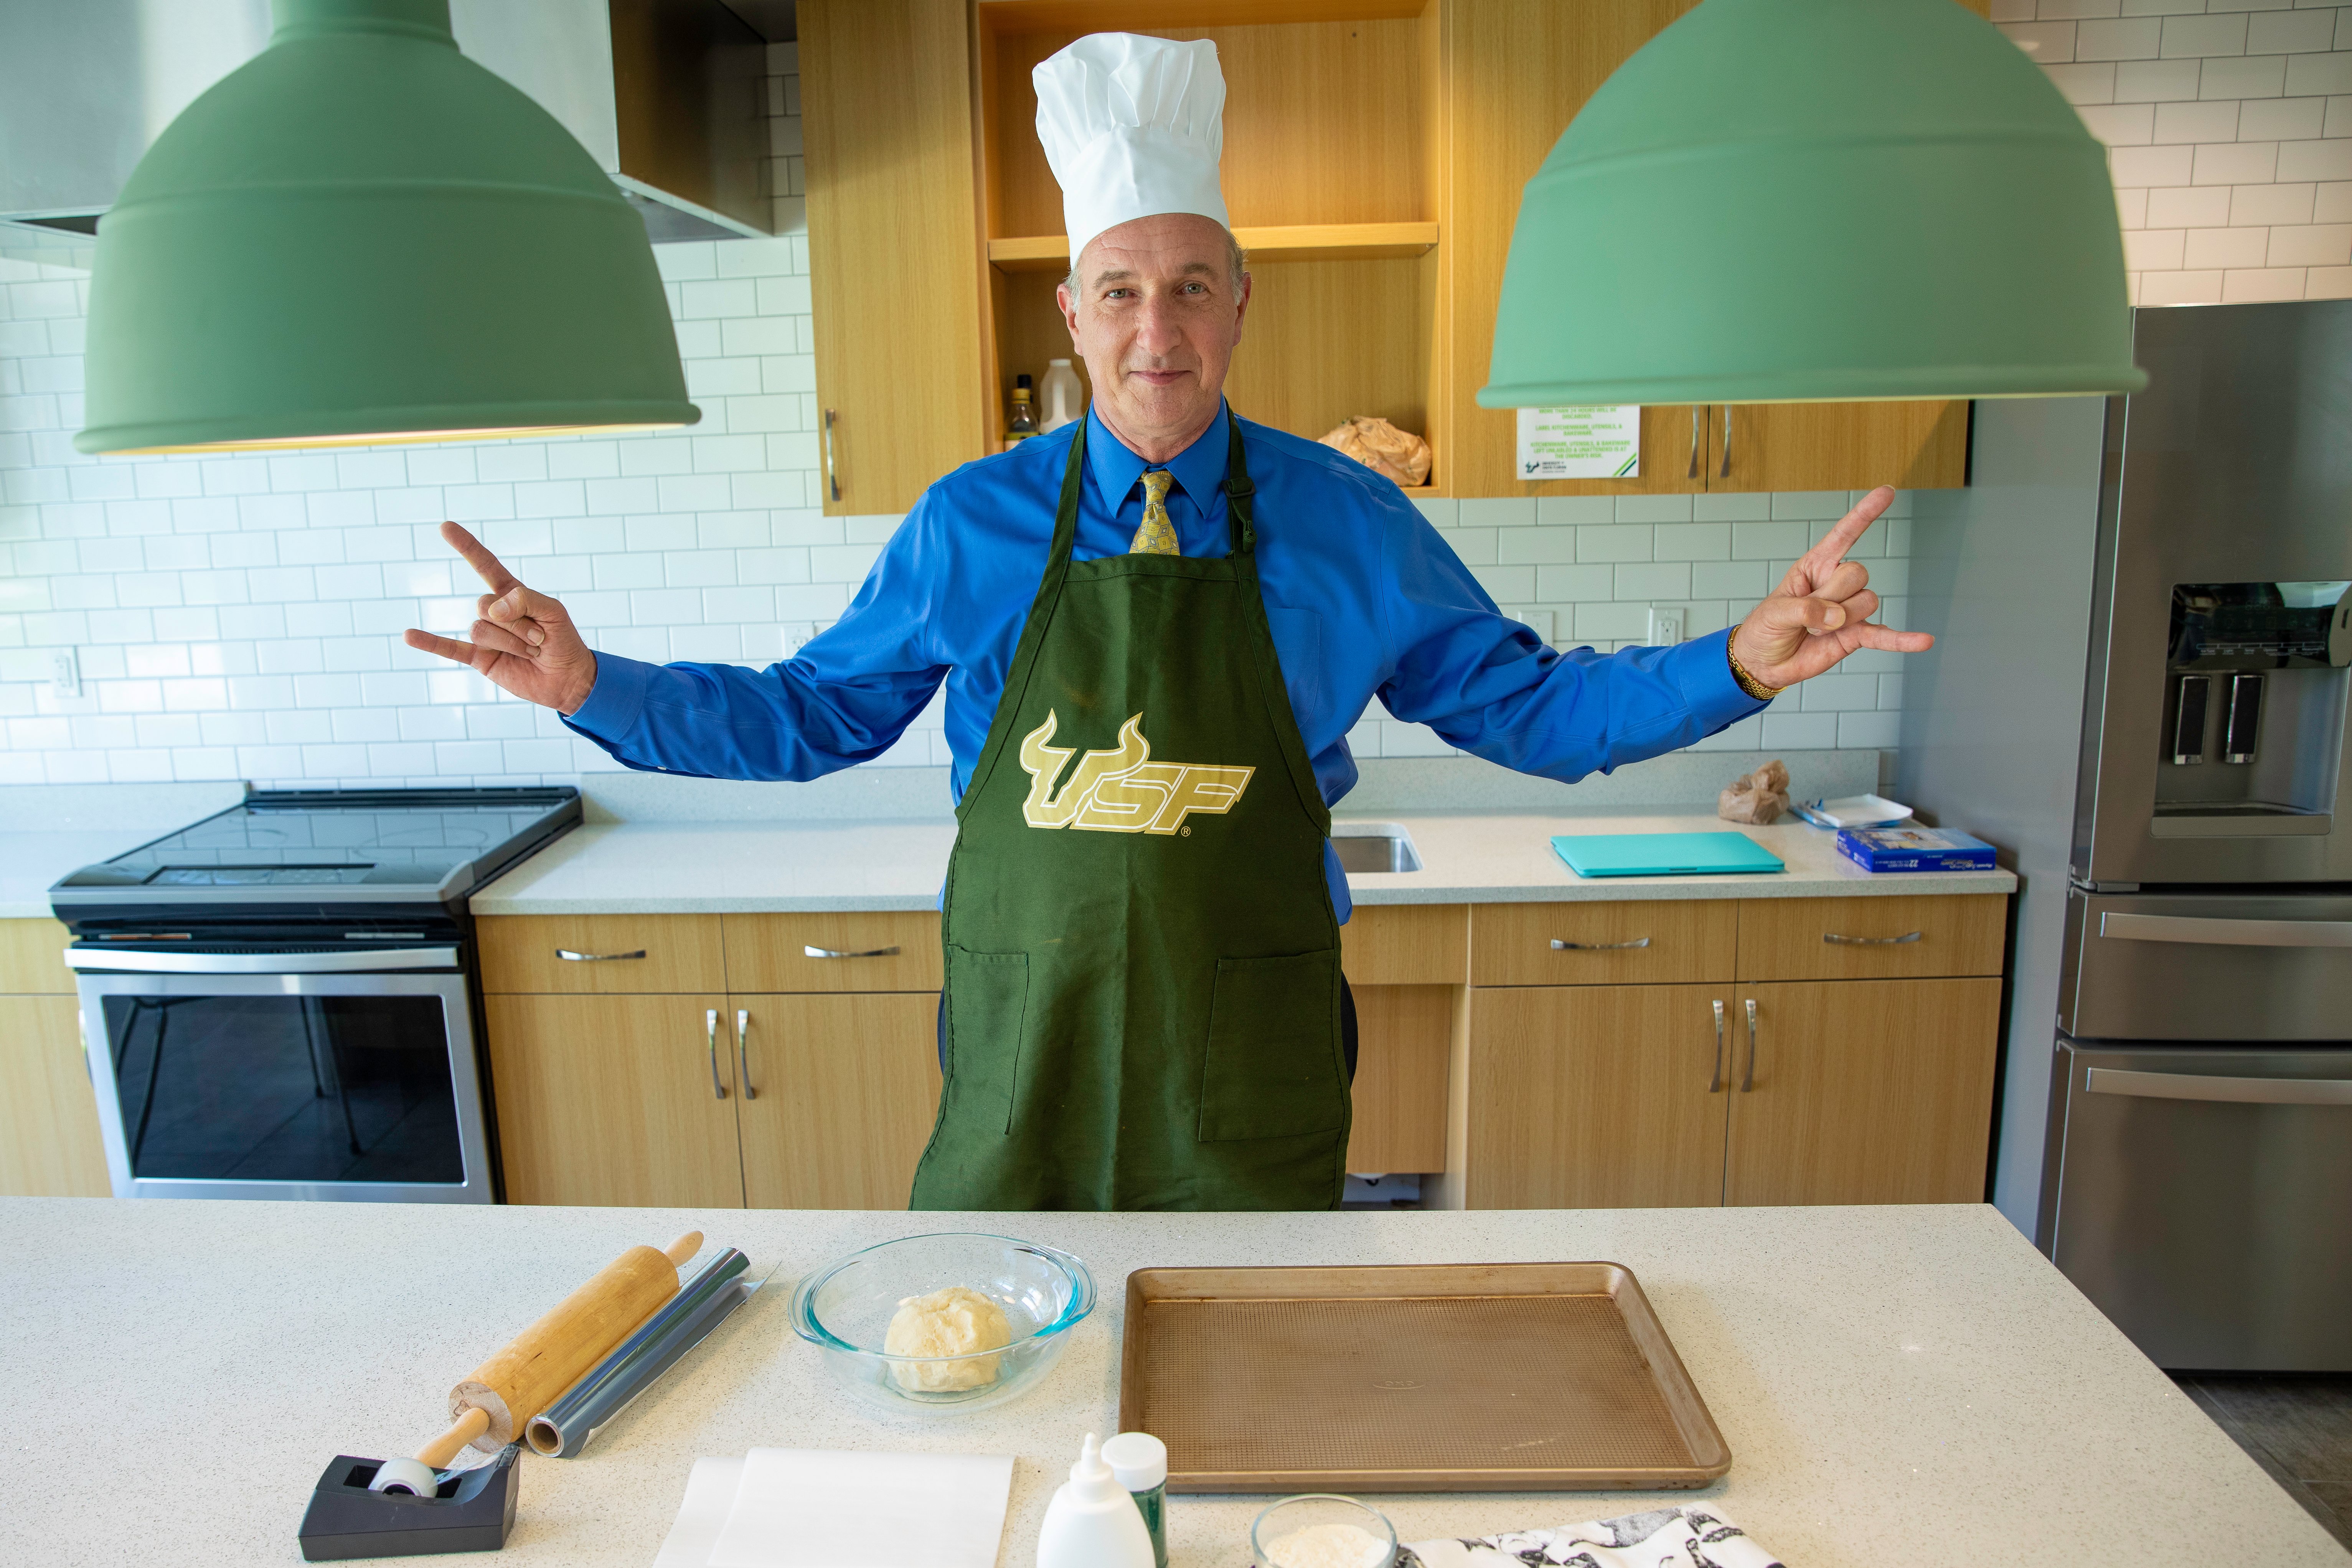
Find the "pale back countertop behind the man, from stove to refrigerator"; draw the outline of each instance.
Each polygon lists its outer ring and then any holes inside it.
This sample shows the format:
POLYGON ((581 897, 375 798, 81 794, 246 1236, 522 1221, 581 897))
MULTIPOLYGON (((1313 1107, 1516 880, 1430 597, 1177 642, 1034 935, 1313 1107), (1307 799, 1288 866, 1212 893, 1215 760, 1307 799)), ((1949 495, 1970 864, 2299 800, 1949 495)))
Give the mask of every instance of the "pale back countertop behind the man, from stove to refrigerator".
MULTIPOLYGON (((1336 835, 1404 827, 1418 872, 1350 875, 1355 903, 1571 903, 1602 898, 1820 898, 2009 893, 2011 872, 1870 875, 1837 835, 1785 818, 1733 827, 1703 811, 1458 811, 1341 816, 1336 835), (1745 832, 1788 863, 1762 877, 1604 877, 1552 853, 1555 832, 1745 832)), ((475 914, 729 914, 929 910, 953 818, 877 823, 614 823, 579 827, 473 896, 475 914)))

